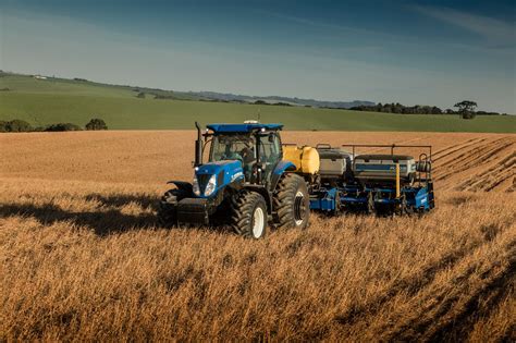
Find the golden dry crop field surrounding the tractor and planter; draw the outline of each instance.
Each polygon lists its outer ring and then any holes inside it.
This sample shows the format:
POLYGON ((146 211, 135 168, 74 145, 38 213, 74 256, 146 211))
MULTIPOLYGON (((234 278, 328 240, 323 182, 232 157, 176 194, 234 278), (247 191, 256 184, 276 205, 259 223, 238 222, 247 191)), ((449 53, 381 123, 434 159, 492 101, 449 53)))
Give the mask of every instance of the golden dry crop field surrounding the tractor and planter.
POLYGON ((194 132, 0 136, 0 341, 516 340, 516 136, 285 132, 432 144, 425 217, 315 216, 243 240, 165 230, 194 132))

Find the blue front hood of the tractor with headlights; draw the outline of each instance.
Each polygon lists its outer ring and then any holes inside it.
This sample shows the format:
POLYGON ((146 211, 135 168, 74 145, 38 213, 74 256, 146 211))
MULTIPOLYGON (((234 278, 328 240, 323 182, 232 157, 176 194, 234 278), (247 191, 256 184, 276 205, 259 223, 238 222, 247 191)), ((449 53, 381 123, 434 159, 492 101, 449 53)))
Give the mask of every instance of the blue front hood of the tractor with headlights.
POLYGON ((242 169, 242 162, 237 160, 208 162, 196 169, 195 177, 197 179, 199 188, 198 196, 212 197, 230 183, 244 179, 244 170, 242 169), (213 175, 214 177, 212 179, 213 175), (213 185, 209 186, 209 183, 213 181, 214 189, 212 191, 213 185))

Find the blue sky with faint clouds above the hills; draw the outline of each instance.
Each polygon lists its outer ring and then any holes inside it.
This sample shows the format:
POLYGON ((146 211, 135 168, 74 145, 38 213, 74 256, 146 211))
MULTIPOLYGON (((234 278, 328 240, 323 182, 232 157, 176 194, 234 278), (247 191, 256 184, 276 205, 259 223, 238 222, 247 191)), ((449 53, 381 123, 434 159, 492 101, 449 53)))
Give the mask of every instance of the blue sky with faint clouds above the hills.
POLYGON ((516 113, 514 1, 0 0, 0 69, 516 113))

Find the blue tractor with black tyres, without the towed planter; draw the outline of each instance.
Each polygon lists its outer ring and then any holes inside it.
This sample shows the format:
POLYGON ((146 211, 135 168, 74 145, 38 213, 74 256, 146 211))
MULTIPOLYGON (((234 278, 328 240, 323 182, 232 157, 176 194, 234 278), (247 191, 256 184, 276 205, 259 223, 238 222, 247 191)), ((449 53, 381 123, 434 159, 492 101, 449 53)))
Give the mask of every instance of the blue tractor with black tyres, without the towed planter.
POLYGON ((169 182, 175 187, 161 199, 162 225, 229 225, 253 238, 263 237, 269 224, 307 228, 310 196, 294 163, 283 160, 283 125, 210 124, 202 133, 195 124, 194 179, 169 182))

